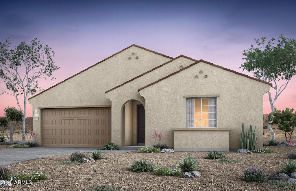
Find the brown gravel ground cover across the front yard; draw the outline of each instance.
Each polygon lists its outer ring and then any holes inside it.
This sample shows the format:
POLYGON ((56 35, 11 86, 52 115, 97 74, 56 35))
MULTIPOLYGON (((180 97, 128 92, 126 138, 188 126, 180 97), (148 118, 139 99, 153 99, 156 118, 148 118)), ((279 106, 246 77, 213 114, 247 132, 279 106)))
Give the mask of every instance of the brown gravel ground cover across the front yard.
MULTIPOLYGON (((6 145, 0 145, 4 149, 6 145)), ((223 152, 226 158, 243 161, 242 163, 224 164, 204 158, 207 152, 176 151, 173 154, 161 153, 107 153, 104 159, 88 164, 61 165, 70 154, 41 158, 8 165, 14 172, 31 173, 41 171, 48 175, 47 179, 33 184, 13 184, 12 187, 1 190, 87 190, 100 184, 112 184, 121 190, 271 190, 259 183, 246 182, 239 179, 242 171, 253 165, 263 168, 266 173, 280 173, 279 161, 286 160, 285 154, 289 147, 265 146, 275 149, 276 153, 239 154, 223 152), (190 154, 198 159, 202 176, 184 179, 154 175, 153 172, 131 172, 129 167, 134 161, 147 159, 155 165, 174 168, 181 156, 190 154)), ((24 148, 25 149, 25 148, 24 148)), ((17 156, 16 156, 17 157, 17 156)))

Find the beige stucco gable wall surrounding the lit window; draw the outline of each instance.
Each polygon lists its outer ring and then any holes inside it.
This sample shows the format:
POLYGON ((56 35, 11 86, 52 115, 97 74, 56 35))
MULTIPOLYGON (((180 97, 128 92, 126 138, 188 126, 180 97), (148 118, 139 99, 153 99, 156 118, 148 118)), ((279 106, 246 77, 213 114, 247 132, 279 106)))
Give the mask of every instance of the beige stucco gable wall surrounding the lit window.
MULTIPOLYGON (((263 94, 267 85, 233 72, 198 63, 154 85, 140 90, 145 98, 146 132, 157 128, 168 133, 167 144, 174 147, 173 128, 186 128, 186 98, 184 95, 213 95, 217 97, 217 128, 230 128, 229 149, 240 148, 242 123, 256 126, 257 148, 263 147, 263 94), (202 74, 200 73, 202 70, 202 74), (198 78, 195 78, 195 76, 198 78), (204 77, 207 75, 207 78, 204 77)), ((146 146, 154 143, 146 134, 146 146)), ((192 136, 200 141, 214 142, 216 137, 192 136)), ((227 140, 225 140, 227 142, 227 140)), ((192 148, 195 146, 192 145, 192 148)))

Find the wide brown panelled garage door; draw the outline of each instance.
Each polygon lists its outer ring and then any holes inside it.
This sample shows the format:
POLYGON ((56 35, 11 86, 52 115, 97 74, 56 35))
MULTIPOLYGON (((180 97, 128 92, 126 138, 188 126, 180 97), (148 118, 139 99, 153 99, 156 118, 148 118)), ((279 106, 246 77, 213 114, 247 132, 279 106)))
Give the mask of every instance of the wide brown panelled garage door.
POLYGON ((111 142, 111 107, 42 109, 43 147, 102 147, 111 142))

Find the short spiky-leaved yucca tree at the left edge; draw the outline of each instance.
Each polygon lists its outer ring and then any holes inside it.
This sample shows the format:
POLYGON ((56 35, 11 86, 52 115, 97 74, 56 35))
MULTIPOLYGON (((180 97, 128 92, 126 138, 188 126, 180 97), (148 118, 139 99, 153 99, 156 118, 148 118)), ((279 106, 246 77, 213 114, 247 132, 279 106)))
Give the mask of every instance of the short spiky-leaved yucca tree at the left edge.
POLYGON ((8 122, 10 123, 10 128, 9 128, 10 138, 8 137, 5 128, 4 128, 4 131, 7 138, 13 143, 13 135, 15 134, 15 130, 17 129, 17 123, 22 121, 24 114, 22 110, 17 110, 15 107, 5 108, 4 113, 6 117, 1 117, 0 127, 7 127, 8 122))

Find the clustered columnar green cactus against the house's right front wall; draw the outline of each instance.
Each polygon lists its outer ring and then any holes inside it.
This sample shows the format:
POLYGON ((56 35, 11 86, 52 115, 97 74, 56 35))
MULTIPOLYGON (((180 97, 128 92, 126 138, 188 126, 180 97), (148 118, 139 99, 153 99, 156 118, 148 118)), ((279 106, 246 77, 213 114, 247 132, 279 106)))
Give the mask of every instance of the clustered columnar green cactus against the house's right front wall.
POLYGON ((242 132, 241 132, 241 136, 240 136, 242 148, 246 148, 250 151, 252 151, 252 150, 254 150, 254 148, 256 148, 257 137, 255 140, 255 131, 256 131, 256 126, 255 126, 254 132, 253 132, 252 125, 250 125, 250 129, 246 132, 246 135, 245 135, 244 134, 244 123, 242 123, 242 132))

